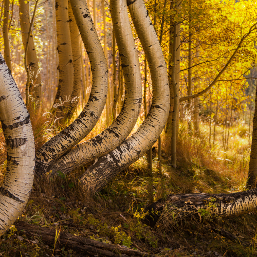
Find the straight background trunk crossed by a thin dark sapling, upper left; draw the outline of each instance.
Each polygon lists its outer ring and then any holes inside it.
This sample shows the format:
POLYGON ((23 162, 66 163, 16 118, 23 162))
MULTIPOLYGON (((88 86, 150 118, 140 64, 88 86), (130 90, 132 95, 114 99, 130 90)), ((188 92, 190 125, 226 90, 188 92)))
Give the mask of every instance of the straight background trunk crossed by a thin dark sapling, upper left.
MULTIPOLYGON (((29 2, 25 3, 24 0, 19 0, 20 5, 20 20, 21 20, 21 31, 22 31, 22 43, 24 50, 26 49, 30 16, 29 16, 29 2)), ((36 50, 34 45, 34 38, 32 32, 30 33, 29 43, 27 46, 27 66, 30 72, 30 79, 33 81, 29 88, 29 94, 35 99, 36 107, 39 107, 41 101, 41 75, 39 69, 39 60, 36 56, 36 50)))

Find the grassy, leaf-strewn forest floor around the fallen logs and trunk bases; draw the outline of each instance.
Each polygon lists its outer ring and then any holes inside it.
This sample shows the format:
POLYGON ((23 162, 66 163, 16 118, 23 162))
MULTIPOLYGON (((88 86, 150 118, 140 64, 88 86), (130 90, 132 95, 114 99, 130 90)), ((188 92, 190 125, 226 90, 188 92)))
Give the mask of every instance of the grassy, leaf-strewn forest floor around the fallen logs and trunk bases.
MULTIPOLYGON (((42 131, 37 130, 37 127, 42 124, 35 125, 36 122, 33 122, 39 147, 46 139, 38 136, 42 131)), ((49 127, 45 126, 44 130, 49 130, 49 127)), ((256 213, 213 219, 211 223, 206 222, 205 217, 192 221, 177 217, 171 224, 159 224, 154 228, 143 223, 142 210, 151 198, 157 200, 172 193, 230 193, 245 190, 249 128, 245 124, 230 128, 229 148, 225 151, 222 146, 223 128, 216 127, 216 142, 213 144, 212 139, 210 145, 208 124, 202 124, 201 127, 196 136, 188 131, 187 122, 180 124, 176 170, 171 167, 170 135, 163 133, 161 174, 156 144, 153 150, 153 176, 149 173, 147 158, 143 156, 94 197, 89 196, 78 181, 85 168, 69 176, 61 171, 54 177, 50 174, 36 176, 26 209, 1 237, 0 256, 87 256, 85 251, 81 253, 61 245, 57 239, 60 232, 124 245, 155 256, 257 256, 256 213), (19 230, 17 224, 21 221, 52 229, 56 238, 46 243, 40 235, 30 236, 26 230, 19 230), (237 236, 237 240, 222 236, 219 228, 237 236)), ((49 137, 49 133, 54 134, 49 131, 46 137, 49 137)), ((99 131, 96 129, 87 138, 99 131)), ((4 151, 3 135, 0 140, 4 151)), ((4 154, 1 158, 4 176, 4 154)), ((128 255, 117 253, 115 256, 128 255)))

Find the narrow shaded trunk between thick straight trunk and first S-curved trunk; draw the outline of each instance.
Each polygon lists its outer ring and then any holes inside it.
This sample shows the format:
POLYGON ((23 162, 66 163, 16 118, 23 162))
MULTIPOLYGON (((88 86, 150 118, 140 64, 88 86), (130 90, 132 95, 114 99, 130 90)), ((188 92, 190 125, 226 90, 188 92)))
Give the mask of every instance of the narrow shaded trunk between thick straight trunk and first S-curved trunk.
POLYGON ((74 66, 74 81, 73 81, 73 91, 71 94, 71 102, 69 106, 69 111, 67 113, 67 118, 71 118, 74 114, 75 109, 79 102, 79 96, 81 91, 81 52, 80 52, 80 32, 79 28, 76 24, 74 14, 72 12, 70 2, 68 3, 69 8, 69 32, 70 32, 70 40, 71 40, 71 48, 72 48, 72 59, 74 66))

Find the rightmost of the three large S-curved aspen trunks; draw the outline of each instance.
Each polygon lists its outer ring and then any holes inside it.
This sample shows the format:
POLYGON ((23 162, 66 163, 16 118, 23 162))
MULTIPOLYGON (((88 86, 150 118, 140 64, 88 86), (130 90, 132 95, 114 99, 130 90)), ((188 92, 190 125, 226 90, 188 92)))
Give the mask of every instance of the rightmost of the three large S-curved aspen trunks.
MULTIPOLYGON (((112 0, 111 7, 117 5, 117 2, 126 10, 125 0, 112 0)), ((163 130, 169 114, 167 66, 157 34, 143 0, 128 0, 127 6, 149 63, 153 83, 153 102, 148 117, 138 130, 117 149, 97 159, 82 177, 82 181, 93 193, 101 190, 110 179, 150 149, 163 130)))

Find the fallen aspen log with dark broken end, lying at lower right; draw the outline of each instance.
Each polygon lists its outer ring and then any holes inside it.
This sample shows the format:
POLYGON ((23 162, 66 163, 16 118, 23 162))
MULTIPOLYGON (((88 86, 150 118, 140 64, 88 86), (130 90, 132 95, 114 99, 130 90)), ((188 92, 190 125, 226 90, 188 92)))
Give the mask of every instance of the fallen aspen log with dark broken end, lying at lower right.
POLYGON ((257 210, 257 189, 231 194, 172 194, 145 208, 145 222, 172 223, 192 217, 231 217, 257 210))

